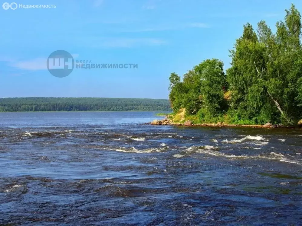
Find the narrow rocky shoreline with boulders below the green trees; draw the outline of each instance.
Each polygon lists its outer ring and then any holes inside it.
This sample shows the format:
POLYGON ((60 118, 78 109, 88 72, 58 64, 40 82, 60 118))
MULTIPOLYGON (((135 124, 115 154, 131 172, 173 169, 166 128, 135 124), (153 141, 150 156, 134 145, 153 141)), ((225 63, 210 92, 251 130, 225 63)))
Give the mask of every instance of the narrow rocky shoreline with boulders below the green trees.
POLYGON ((264 125, 238 125, 238 124, 226 124, 222 122, 214 123, 201 123, 201 124, 193 124, 190 120, 185 121, 184 123, 175 123, 169 118, 164 118, 162 120, 155 119, 150 123, 151 125, 162 125, 162 126, 203 126, 203 127, 251 127, 251 128, 287 128, 287 129, 294 129, 295 126, 283 126, 283 125, 276 125, 271 123, 266 123, 264 125))

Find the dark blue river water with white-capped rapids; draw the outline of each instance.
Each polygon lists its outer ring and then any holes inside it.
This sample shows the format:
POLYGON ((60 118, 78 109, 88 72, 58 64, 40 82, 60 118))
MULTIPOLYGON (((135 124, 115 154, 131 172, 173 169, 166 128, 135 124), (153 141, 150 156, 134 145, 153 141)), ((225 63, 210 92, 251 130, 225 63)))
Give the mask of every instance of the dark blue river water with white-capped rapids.
POLYGON ((302 132, 0 113, 0 224, 301 225, 302 132))

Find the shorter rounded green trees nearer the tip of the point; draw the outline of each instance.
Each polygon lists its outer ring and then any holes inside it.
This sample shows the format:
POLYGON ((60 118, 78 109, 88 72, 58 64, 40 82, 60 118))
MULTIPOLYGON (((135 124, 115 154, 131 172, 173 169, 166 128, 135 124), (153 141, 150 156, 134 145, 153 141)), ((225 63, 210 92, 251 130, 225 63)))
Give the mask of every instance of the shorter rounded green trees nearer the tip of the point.
POLYGON ((183 81, 175 73, 171 73, 169 80, 169 99, 175 112, 185 108, 187 114, 194 115, 204 108, 215 117, 226 109, 223 98, 226 78, 223 63, 218 59, 207 59, 196 65, 184 74, 183 81))

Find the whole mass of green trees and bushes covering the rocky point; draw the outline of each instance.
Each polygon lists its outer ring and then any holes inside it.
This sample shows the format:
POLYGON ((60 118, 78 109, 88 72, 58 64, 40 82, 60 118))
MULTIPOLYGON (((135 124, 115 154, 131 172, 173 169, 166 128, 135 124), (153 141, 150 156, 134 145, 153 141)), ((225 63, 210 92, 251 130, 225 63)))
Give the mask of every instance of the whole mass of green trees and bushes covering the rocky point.
POLYGON ((198 122, 296 124, 302 118, 301 16, 294 5, 273 33, 260 21, 246 24, 230 51, 231 67, 207 59, 170 75, 174 112, 185 109, 198 122), (195 116, 195 117, 193 117, 195 116))

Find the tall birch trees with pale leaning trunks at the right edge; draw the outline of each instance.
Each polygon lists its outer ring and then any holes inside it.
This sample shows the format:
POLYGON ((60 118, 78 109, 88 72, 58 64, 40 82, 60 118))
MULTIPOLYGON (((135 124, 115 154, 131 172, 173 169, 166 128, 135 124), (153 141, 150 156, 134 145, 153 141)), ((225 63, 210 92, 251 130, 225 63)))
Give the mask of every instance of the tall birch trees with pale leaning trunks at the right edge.
POLYGON ((244 26, 231 50, 232 107, 244 119, 294 124, 301 117, 301 17, 291 6, 273 34, 265 21, 244 26))

